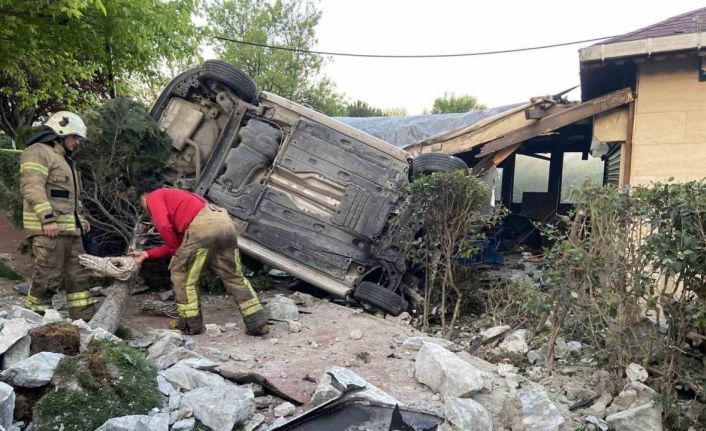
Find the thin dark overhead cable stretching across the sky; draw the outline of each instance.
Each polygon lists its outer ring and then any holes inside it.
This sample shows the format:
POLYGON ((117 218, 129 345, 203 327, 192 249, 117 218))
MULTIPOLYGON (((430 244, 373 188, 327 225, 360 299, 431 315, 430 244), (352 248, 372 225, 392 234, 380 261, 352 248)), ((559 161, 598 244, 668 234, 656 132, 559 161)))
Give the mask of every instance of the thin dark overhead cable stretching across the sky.
POLYGON ((341 56, 341 57, 366 57, 366 58, 474 57, 474 56, 481 56, 481 55, 508 54, 508 53, 512 53, 512 52, 534 51, 534 50, 538 50, 538 49, 557 48, 560 46, 577 45, 579 43, 596 42, 599 40, 609 39, 611 37, 614 37, 614 36, 596 37, 596 38, 592 38, 592 39, 575 40, 572 42, 553 43, 551 45, 502 49, 502 50, 497 50, 497 51, 464 52, 464 53, 455 53, 455 54, 358 54, 358 53, 352 53, 352 52, 317 51, 317 50, 313 50, 313 49, 293 48, 291 46, 276 46, 276 45, 268 45, 268 44, 264 44, 264 43, 248 42, 246 40, 232 39, 232 38, 225 37, 225 36, 213 36, 214 39, 222 40, 225 42, 232 42, 232 43, 237 43, 240 45, 257 46, 259 48, 269 48, 269 49, 277 49, 280 51, 300 52, 300 53, 304 53, 304 54, 320 54, 320 55, 335 55, 335 56, 341 56))

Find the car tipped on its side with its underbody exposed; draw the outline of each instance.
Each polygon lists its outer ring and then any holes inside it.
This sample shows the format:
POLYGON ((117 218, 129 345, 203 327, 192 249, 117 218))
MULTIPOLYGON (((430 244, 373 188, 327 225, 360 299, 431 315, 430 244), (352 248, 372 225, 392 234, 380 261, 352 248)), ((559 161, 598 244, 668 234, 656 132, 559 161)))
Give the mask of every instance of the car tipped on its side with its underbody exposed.
POLYGON ((174 78, 151 115, 172 138, 165 181, 207 197, 242 226, 246 254, 386 313, 416 283, 410 229, 390 221, 414 174, 465 168, 404 150, 267 92, 209 60, 174 78))

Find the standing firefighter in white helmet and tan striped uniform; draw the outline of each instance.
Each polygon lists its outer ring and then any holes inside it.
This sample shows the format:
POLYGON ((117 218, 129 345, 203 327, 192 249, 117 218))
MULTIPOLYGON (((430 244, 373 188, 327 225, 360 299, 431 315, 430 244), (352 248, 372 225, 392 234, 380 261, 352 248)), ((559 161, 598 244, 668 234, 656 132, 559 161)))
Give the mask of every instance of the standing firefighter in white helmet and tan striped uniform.
POLYGON ((22 222, 32 241, 35 270, 26 306, 43 313, 64 285, 69 316, 90 320, 95 304, 88 272, 78 262, 81 237, 91 228, 79 201, 81 181, 71 158, 86 139, 86 125, 73 112, 49 117, 20 158, 22 222))

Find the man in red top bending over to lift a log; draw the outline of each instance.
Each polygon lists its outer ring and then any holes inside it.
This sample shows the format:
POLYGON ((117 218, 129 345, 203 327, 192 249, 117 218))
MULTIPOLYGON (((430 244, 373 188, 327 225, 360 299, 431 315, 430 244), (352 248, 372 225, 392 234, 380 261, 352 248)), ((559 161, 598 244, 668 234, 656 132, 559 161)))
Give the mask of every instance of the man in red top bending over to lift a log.
POLYGON ((250 282, 243 276, 237 248, 238 232, 228 213, 201 196, 179 189, 160 188, 150 180, 138 186, 140 204, 164 240, 164 245, 133 251, 135 262, 172 257, 169 265, 179 319, 187 334, 203 331, 199 304, 199 276, 210 265, 240 308, 250 335, 269 332, 267 316, 250 282))

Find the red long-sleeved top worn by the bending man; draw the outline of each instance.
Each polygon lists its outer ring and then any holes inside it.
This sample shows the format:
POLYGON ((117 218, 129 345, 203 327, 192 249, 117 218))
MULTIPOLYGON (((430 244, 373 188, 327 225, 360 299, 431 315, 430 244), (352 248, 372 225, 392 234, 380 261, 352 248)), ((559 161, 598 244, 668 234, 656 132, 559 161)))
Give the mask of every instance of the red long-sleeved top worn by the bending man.
POLYGON ((171 257, 191 221, 206 205, 201 196, 179 189, 157 189, 147 195, 147 210, 164 245, 147 250, 147 259, 171 257))

